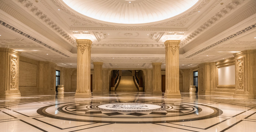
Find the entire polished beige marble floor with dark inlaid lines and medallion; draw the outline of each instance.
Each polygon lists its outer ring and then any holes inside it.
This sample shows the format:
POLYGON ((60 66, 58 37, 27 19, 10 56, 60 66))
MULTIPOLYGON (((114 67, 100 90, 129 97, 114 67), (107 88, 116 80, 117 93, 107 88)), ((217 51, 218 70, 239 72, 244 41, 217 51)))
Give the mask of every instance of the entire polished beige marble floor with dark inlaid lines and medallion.
POLYGON ((0 99, 1 132, 255 132, 256 100, 182 93, 0 99))

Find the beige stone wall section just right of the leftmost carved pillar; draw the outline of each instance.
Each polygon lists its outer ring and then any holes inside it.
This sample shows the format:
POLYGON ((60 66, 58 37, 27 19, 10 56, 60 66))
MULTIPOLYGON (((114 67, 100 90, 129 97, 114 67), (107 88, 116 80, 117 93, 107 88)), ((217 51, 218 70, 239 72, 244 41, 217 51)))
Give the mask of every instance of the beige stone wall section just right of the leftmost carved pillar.
POLYGON ((21 95, 38 92, 38 61, 20 56, 19 91, 21 95))

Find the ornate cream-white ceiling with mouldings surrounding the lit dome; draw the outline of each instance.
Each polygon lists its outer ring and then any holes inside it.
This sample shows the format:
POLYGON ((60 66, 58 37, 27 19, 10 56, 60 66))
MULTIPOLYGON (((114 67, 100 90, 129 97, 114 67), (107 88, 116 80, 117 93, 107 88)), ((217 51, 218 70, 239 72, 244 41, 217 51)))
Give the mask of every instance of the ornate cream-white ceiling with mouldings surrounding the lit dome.
MULTIPOLYGON (((180 68, 195 67, 199 63, 230 58, 234 52, 256 49, 255 0, 199 0, 188 10, 182 8, 186 11, 179 15, 162 21, 154 19, 156 22, 152 23, 140 22, 143 24, 89 18, 62 0, 0 1, 0 47, 17 49, 22 56, 64 67, 76 67, 75 39, 80 37, 93 41, 91 62, 104 62, 104 68, 151 68, 152 62, 162 62, 164 68, 164 41, 170 38, 181 40, 180 68)), ((82 5, 81 0, 74 1, 82 5)), ((97 8, 100 0, 83 1, 94 5, 89 6, 94 10, 101 12, 103 9, 97 8)), ((122 3, 128 7, 152 2, 108 1, 109 6, 122 3)), ((156 13, 165 11, 165 6, 173 6, 167 1, 161 7, 163 1, 166 0, 154 3, 155 8, 143 6, 141 10, 156 13)), ((180 1, 188 3, 191 0, 180 1)), ((115 8, 106 10, 112 9, 115 8)), ((129 11, 129 8, 124 10, 129 11)))

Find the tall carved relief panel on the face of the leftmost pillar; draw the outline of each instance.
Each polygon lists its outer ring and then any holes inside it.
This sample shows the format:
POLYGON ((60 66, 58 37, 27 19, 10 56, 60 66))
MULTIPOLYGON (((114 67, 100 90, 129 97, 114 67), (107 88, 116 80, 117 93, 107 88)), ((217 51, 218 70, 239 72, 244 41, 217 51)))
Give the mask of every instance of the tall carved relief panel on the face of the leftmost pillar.
POLYGON ((11 56, 10 88, 18 88, 18 58, 11 56))

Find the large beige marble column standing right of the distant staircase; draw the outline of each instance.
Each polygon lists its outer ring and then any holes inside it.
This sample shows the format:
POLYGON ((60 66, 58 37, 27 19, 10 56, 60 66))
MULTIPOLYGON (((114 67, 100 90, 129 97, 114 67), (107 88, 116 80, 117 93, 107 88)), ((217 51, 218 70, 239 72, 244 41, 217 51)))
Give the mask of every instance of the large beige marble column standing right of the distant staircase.
POLYGON ((180 40, 166 40, 166 98, 181 98, 179 92, 179 43, 180 40))

